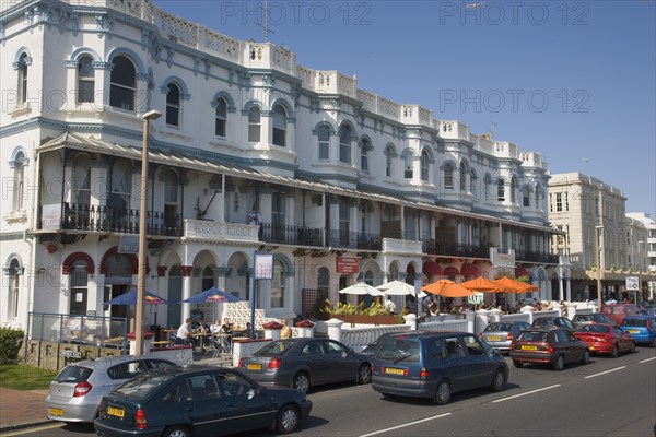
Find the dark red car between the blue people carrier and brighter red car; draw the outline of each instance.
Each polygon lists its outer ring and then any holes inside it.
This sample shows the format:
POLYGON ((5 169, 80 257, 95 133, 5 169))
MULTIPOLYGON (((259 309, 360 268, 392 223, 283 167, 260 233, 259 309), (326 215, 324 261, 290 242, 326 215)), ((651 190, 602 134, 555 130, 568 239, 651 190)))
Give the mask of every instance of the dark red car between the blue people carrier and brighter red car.
POLYGON ((511 358, 515 367, 541 363, 562 370, 567 363, 588 364, 590 351, 587 343, 576 339, 567 329, 531 328, 522 331, 513 341, 511 358))

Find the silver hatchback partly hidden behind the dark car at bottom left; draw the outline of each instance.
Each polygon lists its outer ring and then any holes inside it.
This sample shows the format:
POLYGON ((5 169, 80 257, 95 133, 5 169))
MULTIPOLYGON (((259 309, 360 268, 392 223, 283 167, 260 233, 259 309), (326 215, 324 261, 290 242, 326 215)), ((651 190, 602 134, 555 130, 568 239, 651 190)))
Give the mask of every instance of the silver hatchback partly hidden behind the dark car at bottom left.
POLYGON ((52 421, 93 422, 101 400, 113 388, 148 369, 175 365, 166 359, 132 355, 71 363, 50 382, 46 415, 52 421))

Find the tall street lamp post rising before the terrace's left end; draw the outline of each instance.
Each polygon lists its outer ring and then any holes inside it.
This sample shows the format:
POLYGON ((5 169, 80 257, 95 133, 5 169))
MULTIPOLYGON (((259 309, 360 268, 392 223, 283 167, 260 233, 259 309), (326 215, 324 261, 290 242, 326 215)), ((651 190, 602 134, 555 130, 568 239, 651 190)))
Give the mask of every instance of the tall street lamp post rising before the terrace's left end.
POLYGON ((141 144, 141 209, 139 211, 139 272, 137 277, 137 317, 134 321, 136 354, 143 354, 143 296, 145 295, 145 234, 148 223, 148 137, 150 120, 162 117, 159 110, 149 110, 143 115, 143 142, 141 144))

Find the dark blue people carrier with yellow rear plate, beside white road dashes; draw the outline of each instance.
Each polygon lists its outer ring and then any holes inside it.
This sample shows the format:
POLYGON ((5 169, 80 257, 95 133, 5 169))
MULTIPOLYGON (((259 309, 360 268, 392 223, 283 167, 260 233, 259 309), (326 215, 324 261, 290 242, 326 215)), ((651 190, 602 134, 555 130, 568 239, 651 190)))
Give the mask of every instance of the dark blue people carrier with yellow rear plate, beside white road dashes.
POLYGON ((372 387, 385 397, 429 398, 490 386, 505 389, 508 366, 501 353, 468 332, 386 335, 374 353, 372 387))

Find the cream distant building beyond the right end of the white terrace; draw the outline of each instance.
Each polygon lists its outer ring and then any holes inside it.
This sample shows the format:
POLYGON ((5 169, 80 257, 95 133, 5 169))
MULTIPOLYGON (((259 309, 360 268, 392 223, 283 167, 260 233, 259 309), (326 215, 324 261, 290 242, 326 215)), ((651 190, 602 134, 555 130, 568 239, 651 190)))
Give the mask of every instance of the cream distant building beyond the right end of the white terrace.
POLYGON ((597 298, 597 283, 602 298, 635 298, 626 291, 628 276, 642 276, 643 295, 648 297, 647 228, 625 213, 626 198, 619 188, 581 173, 551 175, 549 181, 549 218, 555 235, 551 248, 566 256, 571 265, 563 272, 571 280, 572 298, 597 298), (639 243, 643 241, 643 243, 639 243))

